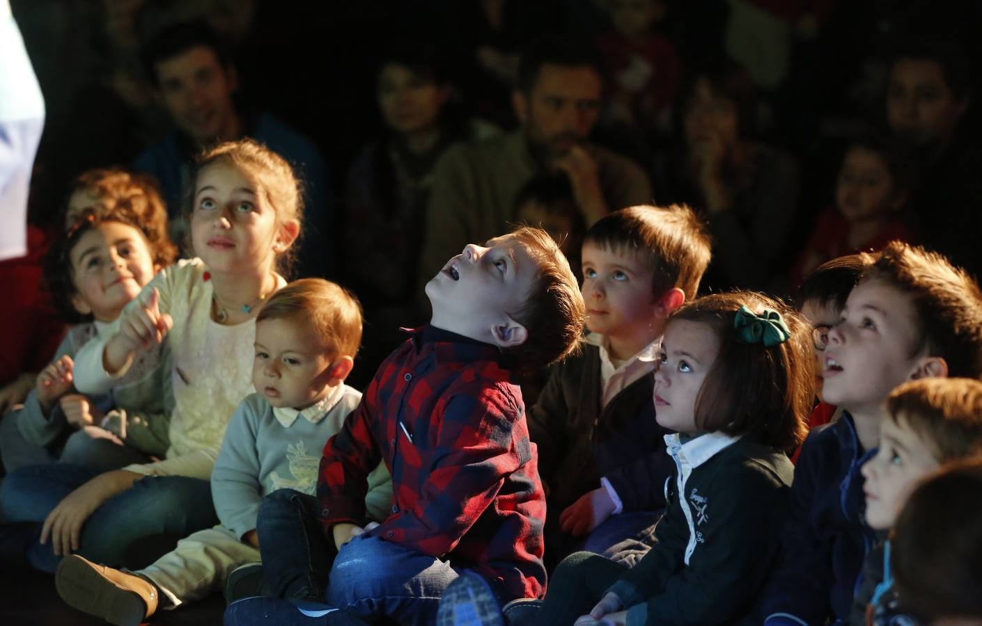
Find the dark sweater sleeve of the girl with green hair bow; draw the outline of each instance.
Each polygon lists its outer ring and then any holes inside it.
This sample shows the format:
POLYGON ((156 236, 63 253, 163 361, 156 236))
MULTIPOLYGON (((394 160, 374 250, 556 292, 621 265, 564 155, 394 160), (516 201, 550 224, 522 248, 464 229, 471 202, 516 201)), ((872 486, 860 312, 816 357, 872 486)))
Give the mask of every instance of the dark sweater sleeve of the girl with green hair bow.
MULTIPOLYGON (((683 561, 684 547, 671 557, 656 547, 654 558, 646 555, 627 575, 639 588, 640 576, 655 581, 649 589, 663 583, 647 600, 648 624, 735 619, 747 610, 773 563, 774 537, 787 515, 786 486, 750 461, 740 467, 738 481, 717 482, 701 496, 706 513, 693 520, 696 536, 688 563, 683 561), (739 485, 738 491, 734 485, 739 485), (645 567, 638 570, 642 564, 645 567)), ((686 531, 686 543, 687 535, 686 531)))

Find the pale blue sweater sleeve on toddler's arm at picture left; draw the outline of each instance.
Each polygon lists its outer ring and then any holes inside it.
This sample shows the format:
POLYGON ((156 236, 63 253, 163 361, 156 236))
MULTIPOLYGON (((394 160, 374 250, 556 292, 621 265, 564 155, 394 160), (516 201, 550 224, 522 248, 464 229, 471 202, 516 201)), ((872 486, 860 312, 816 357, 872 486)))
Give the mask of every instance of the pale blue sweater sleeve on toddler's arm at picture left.
POLYGON ((257 403, 244 400, 236 409, 225 432, 211 473, 211 496, 222 524, 242 539, 255 529, 262 503, 259 484, 259 456, 256 437, 259 430, 257 403))

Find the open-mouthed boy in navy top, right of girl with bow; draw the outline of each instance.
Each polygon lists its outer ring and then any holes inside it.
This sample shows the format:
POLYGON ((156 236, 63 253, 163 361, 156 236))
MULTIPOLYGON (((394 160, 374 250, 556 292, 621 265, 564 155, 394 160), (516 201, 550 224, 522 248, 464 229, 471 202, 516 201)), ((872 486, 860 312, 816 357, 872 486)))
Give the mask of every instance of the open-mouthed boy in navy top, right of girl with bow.
POLYGON ((887 397, 900 383, 982 374, 982 293, 944 257, 887 245, 829 331, 823 396, 842 419, 801 448, 791 517, 755 624, 848 619, 863 559, 876 536, 863 519, 859 468, 876 453, 887 397))

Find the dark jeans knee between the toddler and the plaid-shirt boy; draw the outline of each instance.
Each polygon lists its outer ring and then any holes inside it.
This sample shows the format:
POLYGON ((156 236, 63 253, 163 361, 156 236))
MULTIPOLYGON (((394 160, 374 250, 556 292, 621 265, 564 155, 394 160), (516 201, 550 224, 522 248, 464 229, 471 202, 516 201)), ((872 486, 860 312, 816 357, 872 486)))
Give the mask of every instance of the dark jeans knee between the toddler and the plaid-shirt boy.
POLYGON ((262 499, 255 532, 264 595, 323 601, 338 550, 324 535, 317 500, 292 489, 273 492, 262 499))

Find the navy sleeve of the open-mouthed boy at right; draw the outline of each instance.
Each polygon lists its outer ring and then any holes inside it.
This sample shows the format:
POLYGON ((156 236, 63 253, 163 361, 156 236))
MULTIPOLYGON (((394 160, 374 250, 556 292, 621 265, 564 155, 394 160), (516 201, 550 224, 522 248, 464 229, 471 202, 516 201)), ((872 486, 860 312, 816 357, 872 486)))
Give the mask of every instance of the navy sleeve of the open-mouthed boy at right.
POLYGON ((781 536, 781 555, 756 611, 767 626, 824 624, 833 584, 832 544, 815 535, 815 433, 801 447, 791 485, 791 510, 781 536))

